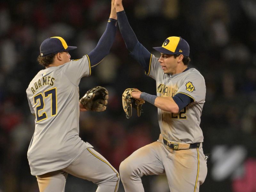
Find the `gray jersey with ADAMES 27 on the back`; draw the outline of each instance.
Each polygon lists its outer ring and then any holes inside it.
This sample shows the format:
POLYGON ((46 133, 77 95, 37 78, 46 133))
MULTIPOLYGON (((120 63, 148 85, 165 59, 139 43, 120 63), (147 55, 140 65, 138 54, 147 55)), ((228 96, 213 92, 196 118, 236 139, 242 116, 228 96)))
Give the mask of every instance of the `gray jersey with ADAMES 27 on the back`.
POLYGON ((83 76, 91 75, 87 55, 58 67, 41 70, 26 92, 35 132, 28 148, 32 175, 60 170, 92 147, 79 137, 79 90, 83 76))

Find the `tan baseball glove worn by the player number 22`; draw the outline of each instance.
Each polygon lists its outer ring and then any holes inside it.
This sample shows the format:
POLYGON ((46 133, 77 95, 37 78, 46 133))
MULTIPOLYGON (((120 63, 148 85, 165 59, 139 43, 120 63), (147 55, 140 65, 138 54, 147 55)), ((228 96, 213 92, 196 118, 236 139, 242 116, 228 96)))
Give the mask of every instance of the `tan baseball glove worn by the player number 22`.
POLYGON ((131 95, 131 92, 133 91, 139 91, 139 90, 135 88, 128 88, 128 89, 125 89, 122 95, 123 109, 127 119, 129 119, 132 116, 132 108, 136 109, 137 115, 139 117, 142 111, 142 104, 145 103, 143 99, 138 100, 133 98, 131 95))

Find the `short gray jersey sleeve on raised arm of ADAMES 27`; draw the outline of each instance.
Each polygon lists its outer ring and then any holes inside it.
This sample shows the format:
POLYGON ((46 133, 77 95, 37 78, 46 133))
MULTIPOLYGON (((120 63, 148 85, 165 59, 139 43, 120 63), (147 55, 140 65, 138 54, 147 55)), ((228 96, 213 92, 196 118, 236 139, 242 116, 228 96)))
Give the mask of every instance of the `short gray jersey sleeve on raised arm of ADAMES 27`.
POLYGON ((75 84, 79 85, 80 79, 84 76, 91 75, 91 64, 88 55, 84 55, 81 59, 71 60, 63 65, 65 75, 75 84))

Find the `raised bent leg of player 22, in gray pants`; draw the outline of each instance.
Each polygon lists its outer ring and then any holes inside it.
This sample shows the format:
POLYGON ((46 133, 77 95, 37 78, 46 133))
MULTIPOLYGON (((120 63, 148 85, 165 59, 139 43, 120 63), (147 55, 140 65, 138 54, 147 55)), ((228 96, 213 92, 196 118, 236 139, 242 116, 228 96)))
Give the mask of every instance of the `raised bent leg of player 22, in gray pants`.
POLYGON ((144 192, 141 177, 143 175, 159 175, 164 167, 159 157, 161 143, 153 142, 127 157, 119 167, 120 177, 125 192, 144 192))

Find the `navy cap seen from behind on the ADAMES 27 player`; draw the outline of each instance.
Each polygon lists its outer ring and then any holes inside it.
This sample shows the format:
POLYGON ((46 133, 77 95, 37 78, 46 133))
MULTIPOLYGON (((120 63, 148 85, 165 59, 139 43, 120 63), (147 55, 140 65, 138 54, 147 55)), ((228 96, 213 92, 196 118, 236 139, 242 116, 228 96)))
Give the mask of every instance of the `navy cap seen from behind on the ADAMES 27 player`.
POLYGON ((62 37, 49 37, 45 39, 40 46, 41 56, 47 56, 51 53, 59 53, 63 51, 70 51, 77 47, 68 46, 66 41, 62 37))

